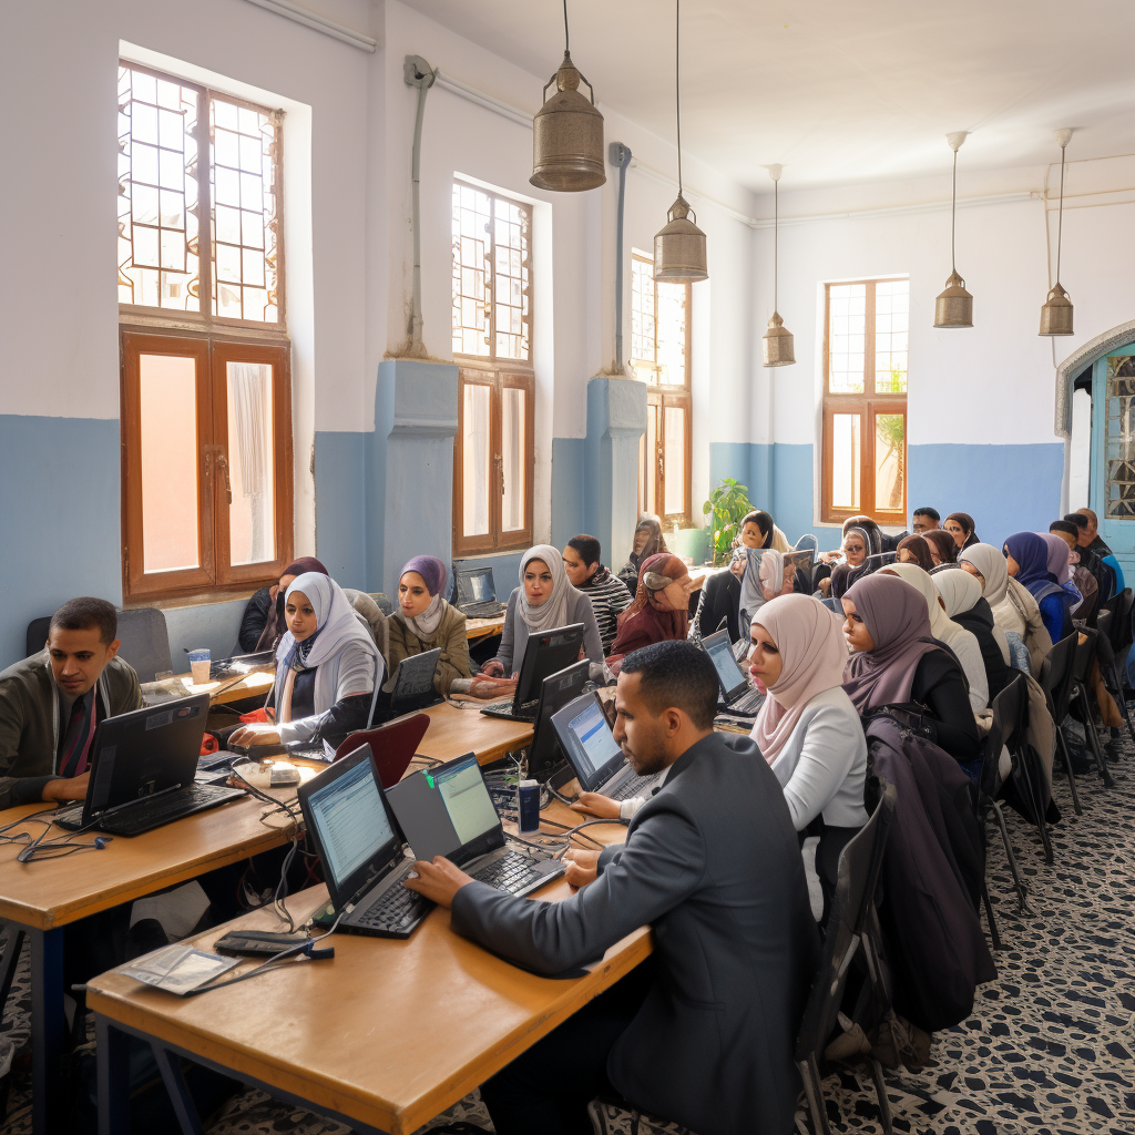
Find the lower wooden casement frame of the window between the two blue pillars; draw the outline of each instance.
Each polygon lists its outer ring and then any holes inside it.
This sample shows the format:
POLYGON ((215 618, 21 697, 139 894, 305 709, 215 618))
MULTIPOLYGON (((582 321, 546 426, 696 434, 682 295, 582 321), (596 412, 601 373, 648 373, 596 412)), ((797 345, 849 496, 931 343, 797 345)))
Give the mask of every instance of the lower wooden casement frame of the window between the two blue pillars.
MULTIPOLYGON (((462 356, 468 360, 469 355, 462 356)), ((532 545, 532 446, 536 436, 536 379, 522 368, 474 367, 468 362, 457 371, 457 434, 453 446, 453 554, 454 556, 493 555, 499 552, 523 550, 532 545), (466 536, 463 531, 465 508, 465 465, 462 414, 465 405, 465 386, 476 384, 489 388, 489 530, 466 536), (504 390, 522 389, 524 397, 524 527, 515 531, 502 530, 504 501, 504 390)))

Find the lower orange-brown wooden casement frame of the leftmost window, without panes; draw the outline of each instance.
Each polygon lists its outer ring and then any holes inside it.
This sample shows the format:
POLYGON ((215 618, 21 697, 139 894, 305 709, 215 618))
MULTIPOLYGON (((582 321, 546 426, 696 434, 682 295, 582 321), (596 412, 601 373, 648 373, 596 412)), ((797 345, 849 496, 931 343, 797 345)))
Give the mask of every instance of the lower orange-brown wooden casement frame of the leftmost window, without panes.
POLYGON ((216 339, 153 328, 121 330, 123 598, 193 602, 245 595, 270 585, 294 558, 292 370, 287 344, 216 339), (196 363, 199 566, 145 573, 142 524, 140 356, 192 356, 196 363), (227 363, 272 367, 272 506, 276 556, 229 564, 227 363), (224 457, 221 462, 218 459, 224 457))

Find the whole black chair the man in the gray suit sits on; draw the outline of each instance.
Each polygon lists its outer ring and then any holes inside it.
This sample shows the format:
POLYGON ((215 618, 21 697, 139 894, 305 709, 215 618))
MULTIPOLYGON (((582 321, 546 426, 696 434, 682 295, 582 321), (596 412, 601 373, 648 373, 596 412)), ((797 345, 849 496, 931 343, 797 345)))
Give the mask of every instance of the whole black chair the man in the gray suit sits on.
MULTIPOLYGON (((840 1016, 840 1003, 847 985, 852 960, 861 953, 874 997, 873 1010, 878 1022, 892 1017, 890 991, 882 973, 878 939, 869 925, 875 906, 875 889, 883 866, 886 835, 894 815, 898 792, 893 784, 883 785, 883 792, 871 819, 840 854, 839 876, 832 909, 827 918, 824 950, 819 968, 808 994, 804 1020, 796 1043, 796 1063, 804 1079, 804 1094, 816 1135, 831 1135, 824 1105, 821 1063, 840 1016)), ((872 1024, 874 1024, 873 1022, 872 1024)), ((896 1048, 898 1044, 896 1043, 896 1048)), ((890 1135, 891 1105, 886 1099, 883 1066, 869 1053, 866 1056, 875 1081, 878 1110, 883 1130, 890 1135)))

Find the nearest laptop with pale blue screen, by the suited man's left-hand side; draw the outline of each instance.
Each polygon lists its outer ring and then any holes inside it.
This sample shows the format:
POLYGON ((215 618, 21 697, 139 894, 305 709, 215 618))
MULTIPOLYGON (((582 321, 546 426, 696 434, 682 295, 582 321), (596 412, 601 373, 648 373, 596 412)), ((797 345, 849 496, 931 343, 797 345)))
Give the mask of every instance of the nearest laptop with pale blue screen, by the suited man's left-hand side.
POLYGON ((369 745, 300 785, 303 822, 323 865, 338 928, 372 938, 409 938, 434 903, 402 884, 403 854, 369 745))

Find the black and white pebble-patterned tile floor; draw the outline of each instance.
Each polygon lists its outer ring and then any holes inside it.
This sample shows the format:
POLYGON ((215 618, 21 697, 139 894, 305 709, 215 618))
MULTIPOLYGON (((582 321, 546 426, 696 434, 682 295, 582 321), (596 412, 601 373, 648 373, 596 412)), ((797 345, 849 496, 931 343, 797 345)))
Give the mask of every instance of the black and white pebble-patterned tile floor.
MULTIPOLYGON (((989 888, 1003 949, 998 977, 973 1015, 934 1037, 920 1073, 888 1073, 894 1129, 910 1135, 1135 1135, 1135 746, 1126 737, 1116 787, 1077 780, 1084 815, 1067 782, 1054 794, 1065 819, 1052 831, 1045 867, 1035 831, 1008 813, 1029 886, 1032 915, 1018 915, 1008 860, 991 842, 989 888)), ((991 833, 992 839, 992 833, 991 833)), ((8 1115, 0 1135, 31 1130, 26 958, 0 1025, 0 1067, 15 1051, 8 1115)), ((881 1132, 869 1078, 824 1083, 835 1132, 881 1132)), ((468 1119, 488 1127, 476 1095, 429 1127, 468 1119)), ((801 1111, 797 1125, 809 1128, 801 1111)), ((611 1133, 629 1130, 612 1116, 611 1133)), ((345 1135, 330 1120, 259 1092, 234 1096, 211 1117, 209 1135, 345 1135)))

